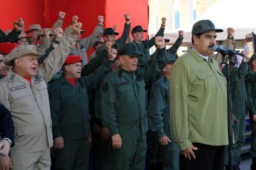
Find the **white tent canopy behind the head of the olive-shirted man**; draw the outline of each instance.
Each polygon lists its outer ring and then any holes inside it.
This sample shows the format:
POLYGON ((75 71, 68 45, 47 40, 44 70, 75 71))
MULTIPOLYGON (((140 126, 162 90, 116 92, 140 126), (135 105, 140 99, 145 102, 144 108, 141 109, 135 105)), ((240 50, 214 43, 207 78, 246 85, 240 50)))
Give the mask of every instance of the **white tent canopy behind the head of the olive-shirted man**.
POLYGON ((211 20, 216 28, 224 30, 223 33, 217 33, 216 40, 226 39, 228 27, 235 29, 235 40, 245 40, 245 35, 252 31, 256 32, 254 10, 256 10, 254 0, 218 0, 206 13, 189 25, 165 33, 165 38, 170 39, 170 44, 173 44, 178 38, 178 30, 183 30, 183 46, 187 46, 187 43, 191 42, 191 30, 194 23, 199 20, 211 20))

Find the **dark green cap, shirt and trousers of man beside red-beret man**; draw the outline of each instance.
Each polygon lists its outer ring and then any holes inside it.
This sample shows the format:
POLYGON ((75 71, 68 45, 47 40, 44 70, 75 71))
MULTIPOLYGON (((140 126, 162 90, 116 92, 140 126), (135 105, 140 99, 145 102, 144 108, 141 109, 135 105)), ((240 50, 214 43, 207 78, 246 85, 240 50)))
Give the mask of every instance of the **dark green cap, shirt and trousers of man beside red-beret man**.
MULTIPOLYGON (((139 55, 134 43, 120 47, 119 55, 124 55, 122 52, 128 47, 130 52, 139 55)), ((103 125, 111 136, 119 134, 122 138, 122 147, 112 150, 112 169, 144 169, 148 131, 145 84, 165 66, 165 48, 156 55, 156 62, 147 67, 134 72, 120 68, 109 74, 103 83, 103 125)))

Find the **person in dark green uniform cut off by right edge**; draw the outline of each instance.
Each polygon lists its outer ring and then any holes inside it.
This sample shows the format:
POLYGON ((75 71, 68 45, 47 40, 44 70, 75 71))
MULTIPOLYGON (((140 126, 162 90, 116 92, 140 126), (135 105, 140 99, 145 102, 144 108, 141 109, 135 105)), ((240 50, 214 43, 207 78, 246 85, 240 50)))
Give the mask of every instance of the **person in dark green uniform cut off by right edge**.
MULTIPOLYGON (((256 54, 253 54, 250 58, 250 66, 252 69, 247 73, 245 77, 248 99, 248 111, 251 120, 251 150, 252 166, 251 169, 256 169, 256 54)), ((241 67, 241 66, 240 66, 241 67)))

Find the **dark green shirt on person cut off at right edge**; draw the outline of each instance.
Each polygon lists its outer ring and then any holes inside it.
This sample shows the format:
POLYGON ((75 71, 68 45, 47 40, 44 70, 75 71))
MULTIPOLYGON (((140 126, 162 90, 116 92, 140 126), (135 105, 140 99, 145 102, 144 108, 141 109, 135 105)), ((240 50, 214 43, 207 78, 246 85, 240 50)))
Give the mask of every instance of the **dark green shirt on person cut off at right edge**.
POLYGON ((256 72, 249 71, 245 77, 247 88, 248 109, 256 115, 256 72))

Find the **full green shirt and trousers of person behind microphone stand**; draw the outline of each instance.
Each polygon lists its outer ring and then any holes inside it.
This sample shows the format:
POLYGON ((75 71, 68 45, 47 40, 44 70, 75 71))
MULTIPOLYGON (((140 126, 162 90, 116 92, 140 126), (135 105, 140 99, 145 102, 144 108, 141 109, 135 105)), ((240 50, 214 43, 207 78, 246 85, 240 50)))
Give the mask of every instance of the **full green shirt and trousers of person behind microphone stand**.
MULTIPOLYGON (((226 75, 227 65, 222 69, 226 75)), ((233 164, 239 166, 241 162, 241 147, 245 143, 245 118, 247 115, 247 93, 245 89, 245 76, 248 71, 247 62, 242 62, 236 69, 230 65, 230 86, 232 113, 236 116, 237 121, 233 121, 233 133, 235 144, 233 145, 233 164)))

